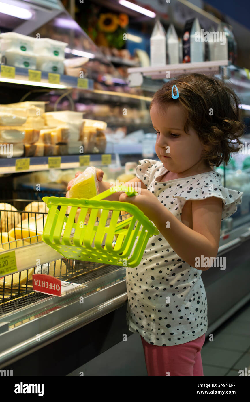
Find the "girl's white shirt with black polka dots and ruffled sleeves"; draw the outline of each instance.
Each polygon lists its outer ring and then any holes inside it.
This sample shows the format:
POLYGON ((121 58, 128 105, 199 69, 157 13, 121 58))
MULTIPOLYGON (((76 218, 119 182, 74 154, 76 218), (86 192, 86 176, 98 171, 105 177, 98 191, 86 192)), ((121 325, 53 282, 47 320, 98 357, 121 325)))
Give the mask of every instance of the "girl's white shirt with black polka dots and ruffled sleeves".
MULTIPOLYGON (((217 172, 159 182, 167 171, 157 160, 139 161, 136 176, 165 208, 181 220, 187 200, 219 197, 222 220, 236 212, 243 193, 222 186, 217 172)), ((208 328, 202 271, 185 263, 160 233, 149 238, 141 263, 128 267, 127 324, 147 343, 172 346, 202 336, 208 328)))

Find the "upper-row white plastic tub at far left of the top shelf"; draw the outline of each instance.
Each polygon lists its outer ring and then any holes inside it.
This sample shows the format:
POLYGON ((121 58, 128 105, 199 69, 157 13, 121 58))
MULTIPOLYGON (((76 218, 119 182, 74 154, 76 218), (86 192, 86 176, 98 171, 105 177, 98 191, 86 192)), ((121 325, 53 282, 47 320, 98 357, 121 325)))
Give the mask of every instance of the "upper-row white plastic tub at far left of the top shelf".
POLYGON ((30 36, 16 32, 5 32, 0 34, 1 51, 4 54, 7 50, 21 51, 22 53, 33 53, 34 41, 30 36))

